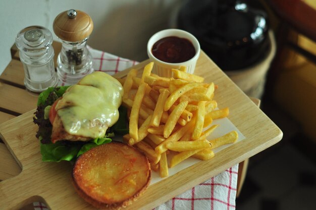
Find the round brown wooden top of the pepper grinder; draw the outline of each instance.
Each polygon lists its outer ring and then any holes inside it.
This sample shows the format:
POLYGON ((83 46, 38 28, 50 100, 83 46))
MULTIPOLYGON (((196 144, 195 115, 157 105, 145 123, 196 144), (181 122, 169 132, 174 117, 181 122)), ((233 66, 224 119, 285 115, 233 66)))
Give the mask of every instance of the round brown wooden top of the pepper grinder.
POLYGON ((80 10, 68 10, 60 13, 54 20, 52 28, 64 41, 77 42, 87 38, 93 30, 89 15, 80 10))

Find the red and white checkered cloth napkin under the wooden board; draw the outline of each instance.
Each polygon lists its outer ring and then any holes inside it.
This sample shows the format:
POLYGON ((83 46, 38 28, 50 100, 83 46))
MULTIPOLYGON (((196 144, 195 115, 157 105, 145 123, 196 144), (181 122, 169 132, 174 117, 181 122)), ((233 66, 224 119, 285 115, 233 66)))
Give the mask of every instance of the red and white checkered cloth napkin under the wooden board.
MULTIPOLYGON (((89 50, 92 54, 95 71, 113 75, 138 63, 90 47, 89 50)), ((235 209, 237 175, 238 164, 154 209, 235 209)), ((35 210, 48 210, 43 203, 34 202, 33 205, 35 210)))

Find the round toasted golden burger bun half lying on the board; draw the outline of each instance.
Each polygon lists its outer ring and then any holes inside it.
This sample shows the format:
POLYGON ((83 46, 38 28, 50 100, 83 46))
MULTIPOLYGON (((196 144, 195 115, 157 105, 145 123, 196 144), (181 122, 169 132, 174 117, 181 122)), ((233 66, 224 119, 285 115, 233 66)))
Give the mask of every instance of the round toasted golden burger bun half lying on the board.
POLYGON ((76 191, 97 208, 129 205, 145 191, 150 178, 146 156, 120 142, 90 149, 79 156, 73 169, 76 191))

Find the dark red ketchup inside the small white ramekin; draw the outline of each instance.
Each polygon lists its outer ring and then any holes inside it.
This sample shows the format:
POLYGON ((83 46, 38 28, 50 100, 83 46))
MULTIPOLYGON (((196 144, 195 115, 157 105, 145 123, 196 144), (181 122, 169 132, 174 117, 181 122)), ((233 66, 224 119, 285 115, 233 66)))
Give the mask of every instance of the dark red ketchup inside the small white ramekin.
POLYGON ((156 41, 151 49, 152 55, 167 63, 182 63, 192 59, 195 48, 186 38, 168 36, 156 41))

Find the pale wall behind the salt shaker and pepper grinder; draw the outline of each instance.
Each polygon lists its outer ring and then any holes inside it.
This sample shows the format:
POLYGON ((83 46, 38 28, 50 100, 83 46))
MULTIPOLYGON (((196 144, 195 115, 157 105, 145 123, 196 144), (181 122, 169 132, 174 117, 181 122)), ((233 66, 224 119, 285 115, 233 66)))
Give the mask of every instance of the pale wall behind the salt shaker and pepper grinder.
MULTIPOLYGON (((52 22, 66 10, 91 16, 94 29, 88 44, 123 58, 147 59, 149 37, 169 27, 168 21, 181 0, 0 0, 0 74, 11 61, 10 48, 17 33, 41 25, 53 34, 52 22)), ((54 34, 54 39, 58 38, 54 34)))

